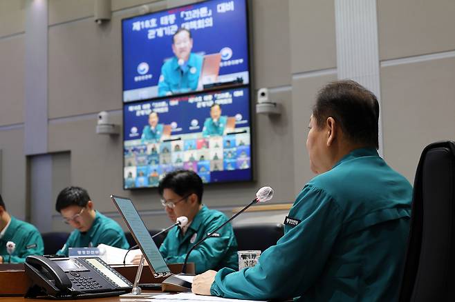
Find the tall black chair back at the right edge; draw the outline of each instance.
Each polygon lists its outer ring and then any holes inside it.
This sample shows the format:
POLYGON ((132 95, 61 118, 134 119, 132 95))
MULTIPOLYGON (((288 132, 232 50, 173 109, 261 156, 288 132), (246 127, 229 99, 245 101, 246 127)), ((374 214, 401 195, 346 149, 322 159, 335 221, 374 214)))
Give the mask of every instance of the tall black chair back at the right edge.
POLYGON ((423 150, 400 301, 455 301, 455 143, 423 150))

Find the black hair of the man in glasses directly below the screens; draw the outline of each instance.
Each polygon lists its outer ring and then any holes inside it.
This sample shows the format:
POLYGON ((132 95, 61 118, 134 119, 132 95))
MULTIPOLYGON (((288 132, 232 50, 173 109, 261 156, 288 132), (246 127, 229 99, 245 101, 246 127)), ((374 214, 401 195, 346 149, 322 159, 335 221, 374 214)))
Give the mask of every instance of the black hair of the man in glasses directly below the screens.
POLYGON ((165 189, 170 189, 181 197, 194 193, 198 197, 198 202, 202 203, 203 183, 201 177, 194 171, 176 170, 167 173, 158 185, 158 192, 161 196, 165 189))

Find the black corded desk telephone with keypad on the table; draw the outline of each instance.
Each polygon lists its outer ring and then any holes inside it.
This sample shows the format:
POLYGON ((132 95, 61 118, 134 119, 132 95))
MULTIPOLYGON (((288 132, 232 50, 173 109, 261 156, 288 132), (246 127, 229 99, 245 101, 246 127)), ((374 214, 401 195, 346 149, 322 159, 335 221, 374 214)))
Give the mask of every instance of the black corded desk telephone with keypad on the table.
POLYGON ((32 281, 26 298, 85 299, 130 292, 131 282, 98 257, 28 256, 24 263, 32 281))

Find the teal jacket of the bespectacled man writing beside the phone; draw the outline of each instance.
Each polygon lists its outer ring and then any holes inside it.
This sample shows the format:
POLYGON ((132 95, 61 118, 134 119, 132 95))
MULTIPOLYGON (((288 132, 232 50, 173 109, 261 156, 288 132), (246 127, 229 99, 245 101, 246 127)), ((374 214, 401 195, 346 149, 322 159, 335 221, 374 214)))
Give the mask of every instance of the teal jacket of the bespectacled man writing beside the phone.
POLYGON ((55 254, 68 256, 68 248, 96 248, 101 243, 127 249, 129 244, 120 225, 96 211, 95 220, 88 232, 73 230, 65 245, 55 254))

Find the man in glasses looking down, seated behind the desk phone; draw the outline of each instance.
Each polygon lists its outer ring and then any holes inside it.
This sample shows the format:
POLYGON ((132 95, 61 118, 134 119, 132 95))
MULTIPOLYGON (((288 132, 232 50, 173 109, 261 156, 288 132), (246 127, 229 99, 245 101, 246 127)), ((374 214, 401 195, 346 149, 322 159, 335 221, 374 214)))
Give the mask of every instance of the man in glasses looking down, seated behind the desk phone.
POLYGON ((101 243, 115 248, 129 248, 120 225, 93 208, 93 201, 86 190, 64 188, 57 197, 55 210, 62 215, 64 223, 75 228, 56 254, 68 256, 68 248, 97 247, 101 243))

